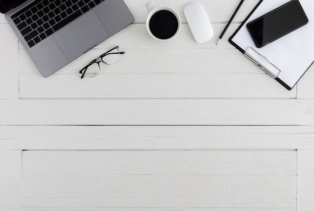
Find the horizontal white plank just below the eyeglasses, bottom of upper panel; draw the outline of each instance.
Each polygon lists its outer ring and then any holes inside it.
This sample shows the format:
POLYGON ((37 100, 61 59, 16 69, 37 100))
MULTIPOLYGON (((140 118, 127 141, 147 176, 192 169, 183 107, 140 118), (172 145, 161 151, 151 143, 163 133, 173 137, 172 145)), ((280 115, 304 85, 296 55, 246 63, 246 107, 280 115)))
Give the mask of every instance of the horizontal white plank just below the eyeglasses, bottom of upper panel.
POLYGON ((20 75, 20 88, 20 97, 26 99, 296 97, 296 89, 288 91, 266 74, 103 74, 91 80, 82 80, 78 74, 45 80, 20 75))

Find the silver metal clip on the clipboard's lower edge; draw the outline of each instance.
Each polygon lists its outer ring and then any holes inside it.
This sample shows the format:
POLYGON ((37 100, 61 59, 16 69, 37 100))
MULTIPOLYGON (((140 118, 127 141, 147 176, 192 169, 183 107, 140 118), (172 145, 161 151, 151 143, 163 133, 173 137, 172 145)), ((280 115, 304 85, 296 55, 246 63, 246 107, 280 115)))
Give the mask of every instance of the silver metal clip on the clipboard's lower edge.
POLYGON ((248 47, 244 53, 251 61, 253 61, 262 70, 267 72, 271 77, 278 78, 281 70, 272 64, 266 57, 258 53, 251 47, 248 47))

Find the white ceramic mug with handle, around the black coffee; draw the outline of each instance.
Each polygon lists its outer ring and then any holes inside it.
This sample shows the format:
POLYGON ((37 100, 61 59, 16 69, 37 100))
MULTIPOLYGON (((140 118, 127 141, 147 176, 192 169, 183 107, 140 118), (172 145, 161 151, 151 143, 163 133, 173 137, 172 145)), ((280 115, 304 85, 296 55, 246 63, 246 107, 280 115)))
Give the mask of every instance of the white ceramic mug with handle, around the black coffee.
POLYGON ((175 39, 180 30, 181 30, 181 18, 179 16, 179 14, 177 13, 177 11, 175 11, 174 9, 172 8, 169 8, 169 7, 156 7, 151 1, 147 2, 146 3, 146 8, 147 8, 147 11, 149 12, 148 14, 148 17, 146 19, 146 28, 147 28, 147 31, 148 31, 148 34, 155 40, 158 40, 158 41, 168 41, 168 40, 173 40, 175 39), (176 31, 176 33, 174 35, 172 35, 170 38, 158 38, 156 37, 150 30, 150 27, 149 27, 149 24, 150 24, 150 20, 151 18, 158 12, 160 11, 170 11, 176 18, 177 18, 177 21, 178 21, 178 29, 176 31))

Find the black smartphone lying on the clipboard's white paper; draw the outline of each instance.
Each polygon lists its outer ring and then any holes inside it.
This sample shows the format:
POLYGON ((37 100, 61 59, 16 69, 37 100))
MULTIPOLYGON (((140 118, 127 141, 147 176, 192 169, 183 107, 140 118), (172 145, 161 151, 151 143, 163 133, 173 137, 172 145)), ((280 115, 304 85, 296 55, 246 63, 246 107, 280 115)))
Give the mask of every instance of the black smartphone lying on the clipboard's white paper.
POLYGON ((246 27, 256 47, 261 48, 307 23, 308 19, 299 1, 292 0, 251 21, 246 27))

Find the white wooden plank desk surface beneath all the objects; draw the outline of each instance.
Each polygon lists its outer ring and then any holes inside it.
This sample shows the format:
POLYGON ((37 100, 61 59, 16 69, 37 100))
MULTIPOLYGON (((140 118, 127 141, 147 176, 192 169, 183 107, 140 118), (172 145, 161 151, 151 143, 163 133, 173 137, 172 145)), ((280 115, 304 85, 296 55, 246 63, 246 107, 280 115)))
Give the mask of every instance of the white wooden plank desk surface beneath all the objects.
MULTIPOLYGON (((183 15, 173 42, 134 24, 42 78, 0 16, 0 210, 314 210, 314 70, 291 91, 228 38, 257 4, 199 0, 214 38, 194 41, 183 15), (87 62, 126 53, 93 79, 87 62)), ((43 52, 44 53, 44 52, 43 52)))

